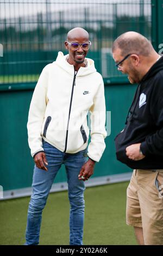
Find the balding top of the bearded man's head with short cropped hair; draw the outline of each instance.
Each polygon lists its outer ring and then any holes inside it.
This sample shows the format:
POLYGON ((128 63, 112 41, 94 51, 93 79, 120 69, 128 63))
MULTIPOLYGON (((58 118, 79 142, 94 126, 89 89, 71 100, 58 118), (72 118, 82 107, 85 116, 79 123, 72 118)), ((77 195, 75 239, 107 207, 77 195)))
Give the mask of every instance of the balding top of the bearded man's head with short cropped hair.
POLYGON ((147 57, 154 52, 151 42, 145 36, 133 31, 118 36, 113 43, 112 52, 117 48, 120 48, 122 56, 135 53, 147 57))

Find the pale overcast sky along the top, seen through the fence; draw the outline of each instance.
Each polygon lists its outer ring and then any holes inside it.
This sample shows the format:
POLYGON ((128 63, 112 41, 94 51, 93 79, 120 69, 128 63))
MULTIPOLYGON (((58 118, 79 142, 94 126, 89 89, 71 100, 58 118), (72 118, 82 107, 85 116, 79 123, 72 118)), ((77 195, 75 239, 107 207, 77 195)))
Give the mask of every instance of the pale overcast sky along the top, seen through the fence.
MULTIPOLYGON (((118 11, 121 11, 121 14, 127 13, 128 14, 139 14, 139 5, 134 5, 133 3, 151 3, 150 0, 0 0, 0 19, 8 18, 8 17, 20 17, 20 16, 29 16, 29 15, 35 15, 37 13, 46 13, 46 2, 51 3, 48 4, 48 8, 50 7, 50 10, 52 12, 59 11, 59 10, 68 10, 72 9, 75 10, 79 7, 86 7, 91 6, 93 7, 93 4, 99 4, 98 8, 104 8, 105 5, 109 5, 111 3, 124 3, 123 8, 118 8, 118 11), (126 7, 125 3, 131 3, 128 5, 128 9, 124 8, 126 7)), ((122 6, 121 4, 119 7, 122 6)), ((95 7, 95 5, 94 5, 95 7)), ((97 7, 97 5, 96 5, 97 7)), ((111 10, 111 8, 110 8, 111 10)), ((148 8, 145 6, 145 14, 149 12, 149 5, 148 8)))

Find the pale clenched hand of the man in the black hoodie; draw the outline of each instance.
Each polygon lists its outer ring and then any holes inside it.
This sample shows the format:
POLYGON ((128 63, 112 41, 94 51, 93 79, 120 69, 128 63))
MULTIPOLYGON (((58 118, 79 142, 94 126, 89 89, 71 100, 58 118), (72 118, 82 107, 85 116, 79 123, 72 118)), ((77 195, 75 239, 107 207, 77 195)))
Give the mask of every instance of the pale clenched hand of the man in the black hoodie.
POLYGON ((129 159, 138 161, 145 158, 145 155, 140 153, 140 144, 141 143, 136 143, 126 148, 126 155, 129 159))

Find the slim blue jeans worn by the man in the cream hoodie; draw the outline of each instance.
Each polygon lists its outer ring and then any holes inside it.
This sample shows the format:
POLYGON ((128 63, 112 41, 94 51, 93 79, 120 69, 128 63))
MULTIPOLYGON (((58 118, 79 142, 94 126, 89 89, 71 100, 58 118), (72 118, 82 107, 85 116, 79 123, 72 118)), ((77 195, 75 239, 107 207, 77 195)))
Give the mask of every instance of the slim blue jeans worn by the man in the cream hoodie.
POLYGON ((46 153, 48 171, 34 167, 33 193, 28 208, 25 245, 39 244, 42 210, 62 163, 66 168, 70 200, 70 245, 82 245, 85 184, 83 180, 78 179, 78 175, 87 160, 86 150, 76 154, 63 153, 45 141, 43 141, 42 147, 46 153))

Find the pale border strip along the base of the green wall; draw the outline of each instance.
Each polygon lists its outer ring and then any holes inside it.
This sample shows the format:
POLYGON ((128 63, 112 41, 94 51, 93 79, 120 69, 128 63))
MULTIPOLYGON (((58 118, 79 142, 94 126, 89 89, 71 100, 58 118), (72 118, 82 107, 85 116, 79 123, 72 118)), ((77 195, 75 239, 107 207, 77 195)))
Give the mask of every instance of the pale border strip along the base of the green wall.
MULTIPOLYGON (((114 174, 114 175, 108 175, 108 176, 99 176, 96 178, 91 178, 90 180, 86 181, 85 186, 93 187, 93 186, 111 184, 116 182, 129 181, 131 178, 131 175, 132 175, 132 172, 123 173, 123 174, 114 174)), ((50 193, 65 191, 67 189, 68 189, 67 182, 58 182, 52 185, 50 193)), ((3 198, 1 198, 1 200, 18 198, 18 197, 28 197, 28 196, 31 196, 31 194, 32 194, 32 187, 20 188, 18 190, 7 190, 3 192, 3 198)))

